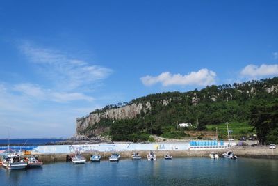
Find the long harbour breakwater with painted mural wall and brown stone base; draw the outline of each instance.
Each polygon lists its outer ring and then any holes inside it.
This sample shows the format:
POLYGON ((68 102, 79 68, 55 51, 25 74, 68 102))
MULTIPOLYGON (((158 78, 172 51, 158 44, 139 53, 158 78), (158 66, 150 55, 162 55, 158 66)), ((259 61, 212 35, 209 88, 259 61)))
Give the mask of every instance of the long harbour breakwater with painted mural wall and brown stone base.
POLYGON ((121 158, 131 159, 135 151, 142 159, 147 159, 148 153, 152 150, 156 157, 163 158, 165 154, 172 157, 208 157, 213 151, 222 155, 231 149, 238 157, 278 159, 278 150, 270 149, 268 146, 236 146, 236 143, 228 147, 227 141, 190 141, 186 143, 115 143, 115 144, 83 144, 83 145, 59 145, 59 146, 0 146, 0 155, 4 155, 8 148, 22 152, 24 157, 35 155, 38 160, 44 163, 66 162, 70 155, 76 152, 82 153, 87 161, 91 155, 98 153, 101 160, 108 160, 111 153, 120 154, 121 158), (193 145, 193 146, 192 146, 193 145))

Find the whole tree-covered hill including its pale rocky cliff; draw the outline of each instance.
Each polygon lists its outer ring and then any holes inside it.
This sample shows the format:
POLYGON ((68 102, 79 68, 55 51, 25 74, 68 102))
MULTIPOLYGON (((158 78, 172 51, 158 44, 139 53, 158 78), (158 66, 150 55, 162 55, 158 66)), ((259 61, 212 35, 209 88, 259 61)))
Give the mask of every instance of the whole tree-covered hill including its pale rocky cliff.
POLYGON ((114 141, 147 141, 149 134, 179 138, 184 132, 176 128, 177 123, 192 123, 192 130, 201 131, 226 121, 251 123, 251 108, 258 102, 274 104, 277 95, 278 77, 185 93, 156 93, 77 118, 76 133, 105 133, 114 141))

